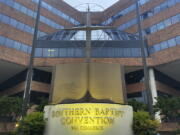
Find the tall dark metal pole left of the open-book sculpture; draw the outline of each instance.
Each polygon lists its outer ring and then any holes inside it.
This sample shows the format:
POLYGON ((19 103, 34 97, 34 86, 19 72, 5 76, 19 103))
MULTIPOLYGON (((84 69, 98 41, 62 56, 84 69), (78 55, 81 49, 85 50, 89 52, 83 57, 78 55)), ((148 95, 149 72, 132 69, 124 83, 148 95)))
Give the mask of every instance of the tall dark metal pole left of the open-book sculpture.
POLYGON ((28 65, 27 76, 26 76, 26 84, 25 84, 25 91, 24 91, 24 97, 23 97, 22 114, 21 114, 22 117, 24 117, 27 113, 29 100, 30 100, 31 82, 32 82, 32 77, 33 77, 33 63, 34 63, 34 54, 35 54, 35 48, 36 48, 37 36, 38 36, 41 1, 42 0, 39 0, 39 3, 38 3, 32 50, 31 50, 31 54, 29 58, 29 65, 28 65))

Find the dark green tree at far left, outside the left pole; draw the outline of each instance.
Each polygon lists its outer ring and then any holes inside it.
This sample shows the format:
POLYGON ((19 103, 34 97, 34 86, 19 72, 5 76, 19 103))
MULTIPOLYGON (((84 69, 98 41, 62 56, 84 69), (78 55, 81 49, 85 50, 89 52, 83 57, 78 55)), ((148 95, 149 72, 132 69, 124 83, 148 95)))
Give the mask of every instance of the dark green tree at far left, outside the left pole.
POLYGON ((19 97, 0 97, 0 117, 4 123, 4 128, 7 132, 7 122, 9 118, 16 120, 20 116, 22 107, 22 99, 19 97))

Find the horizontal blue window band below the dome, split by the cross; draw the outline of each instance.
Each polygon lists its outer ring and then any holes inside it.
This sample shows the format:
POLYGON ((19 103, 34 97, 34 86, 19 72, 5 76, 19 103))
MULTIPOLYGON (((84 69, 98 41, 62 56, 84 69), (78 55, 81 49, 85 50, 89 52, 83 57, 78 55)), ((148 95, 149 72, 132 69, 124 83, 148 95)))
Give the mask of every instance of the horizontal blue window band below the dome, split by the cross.
MULTIPOLYGON (((92 48, 93 58, 141 57, 140 48, 92 48)), ((84 58, 85 48, 36 48, 36 57, 84 58)))

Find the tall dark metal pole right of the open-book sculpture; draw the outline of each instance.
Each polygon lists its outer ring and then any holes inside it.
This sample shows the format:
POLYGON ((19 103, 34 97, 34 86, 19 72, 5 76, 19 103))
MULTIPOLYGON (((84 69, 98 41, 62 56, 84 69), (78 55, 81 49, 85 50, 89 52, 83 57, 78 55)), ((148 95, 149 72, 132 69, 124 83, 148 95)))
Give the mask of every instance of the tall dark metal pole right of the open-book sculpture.
POLYGON ((140 17, 140 9, 138 0, 135 0, 136 2, 136 14, 137 14, 137 21, 138 21, 138 31, 139 31, 139 38, 140 38, 140 44, 141 44, 141 56, 142 56, 142 63, 143 63, 143 69, 144 69, 144 84, 146 89, 146 94, 148 98, 148 110, 151 115, 153 115, 153 102, 152 102, 152 93, 150 90, 149 85, 149 73, 148 73, 148 66, 146 61, 146 54, 145 54, 145 44, 144 44, 144 38, 142 33, 142 26, 141 26, 141 17, 140 17))

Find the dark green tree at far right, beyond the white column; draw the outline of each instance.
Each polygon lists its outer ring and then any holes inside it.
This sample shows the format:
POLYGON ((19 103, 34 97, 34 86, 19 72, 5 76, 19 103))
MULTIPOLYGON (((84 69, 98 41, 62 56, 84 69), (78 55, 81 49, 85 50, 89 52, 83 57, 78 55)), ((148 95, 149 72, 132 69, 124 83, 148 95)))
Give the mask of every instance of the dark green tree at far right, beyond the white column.
POLYGON ((161 112, 165 122, 178 122, 180 119, 180 97, 158 97, 155 112, 161 112))

